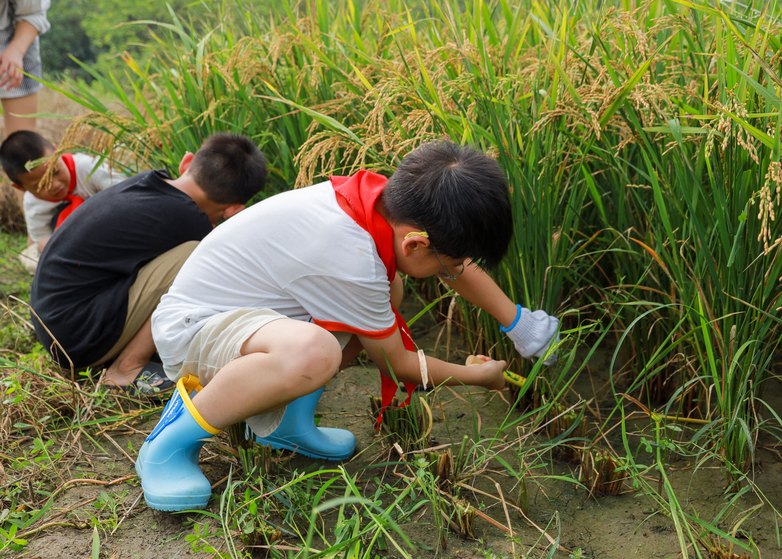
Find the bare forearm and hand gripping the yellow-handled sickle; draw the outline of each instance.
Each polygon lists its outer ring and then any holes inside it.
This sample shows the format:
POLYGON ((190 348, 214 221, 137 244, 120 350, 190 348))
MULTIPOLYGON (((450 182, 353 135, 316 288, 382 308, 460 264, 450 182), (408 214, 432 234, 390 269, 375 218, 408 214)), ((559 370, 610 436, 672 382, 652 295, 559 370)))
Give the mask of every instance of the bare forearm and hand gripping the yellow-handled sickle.
MULTIPOLYGON (((390 377, 386 359, 393 369, 397 380, 420 383, 421 366, 418 354, 409 352, 402 343, 399 329, 394 330, 389 337, 376 340, 371 337, 359 336, 361 344, 367 350, 369 357, 379 367, 382 373, 390 377)), ((482 365, 455 365, 434 357, 426 358, 426 367, 432 384, 468 384, 500 390, 505 386, 502 371, 508 365, 504 361, 488 360, 482 365)))

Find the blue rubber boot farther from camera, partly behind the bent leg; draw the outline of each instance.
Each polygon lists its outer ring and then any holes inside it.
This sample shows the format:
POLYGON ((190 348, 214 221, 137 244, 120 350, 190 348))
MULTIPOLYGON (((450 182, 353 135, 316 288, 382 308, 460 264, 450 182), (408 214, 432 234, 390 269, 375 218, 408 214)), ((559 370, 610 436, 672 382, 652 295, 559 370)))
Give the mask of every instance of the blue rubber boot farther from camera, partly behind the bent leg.
POLYGON ((267 437, 256 437, 256 442, 275 449, 295 450, 321 460, 350 458, 356 449, 353 433, 345 429, 315 426, 315 406, 324 390, 325 387, 289 403, 280 426, 267 437))

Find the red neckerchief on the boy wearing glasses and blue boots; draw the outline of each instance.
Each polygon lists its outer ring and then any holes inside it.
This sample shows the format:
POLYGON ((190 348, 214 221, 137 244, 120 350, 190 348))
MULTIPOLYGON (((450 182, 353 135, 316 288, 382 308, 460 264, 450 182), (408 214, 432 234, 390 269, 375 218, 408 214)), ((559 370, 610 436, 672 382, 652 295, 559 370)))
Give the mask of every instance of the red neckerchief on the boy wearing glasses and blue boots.
MULTIPOLYGON (((371 235, 372 240, 375 240, 378 256, 382 263, 386 265, 389 282, 392 281, 394 276, 396 276, 396 256, 393 253, 393 229, 391 229, 391 225, 386 222, 382 215, 375 210, 375 202, 386 186, 388 179, 371 171, 358 171, 350 177, 331 176, 329 179, 332 181, 332 188, 336 193, 339 207, 342 207, 345 213, 350 215, 358 225, 361 225, 361 228, 371 235)), ((410 352, 415 352, 413 338, 410 335, 410 330, 407 328, 407 323, 404 322, 396 308, 392 307, 392 309, 396 315, 396 326, 399 327, 402 333, 404 348, 410 352)), ((404 386, 407 388, 407 399, 405 399, 402 406, 407 406, 418 384, 406 382, 404 386)), ((381 408, 376 426, 378 429, 380 428, 380 420, 383 417, 383 410, 391 406, 391 401, 394 395, 396 395, 398 388, 392 379, 381 374, 381 408)))

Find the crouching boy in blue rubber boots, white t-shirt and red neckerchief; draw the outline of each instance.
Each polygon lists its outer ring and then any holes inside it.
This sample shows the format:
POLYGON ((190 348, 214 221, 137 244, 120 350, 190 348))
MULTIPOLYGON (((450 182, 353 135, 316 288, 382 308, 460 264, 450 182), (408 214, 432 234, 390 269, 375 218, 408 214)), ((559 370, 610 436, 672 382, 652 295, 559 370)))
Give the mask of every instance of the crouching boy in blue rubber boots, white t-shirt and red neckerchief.
MULTIPOLYGON (((396 270, 439 275, 497 318, 524 357, 543 355, 558 319, 515 305, 483 271, 499 263, 512 229, 497 163, 450 142, 414 150, 390 179, 369 171, 332 176, 215 229, 152 315, 164 370, 178 383, 136 461, 149 507, 206 508, 212 490, 198 466, 203 439, 240 420, 278 449, 349 457, 350 431, 314 424, 340 362, 364 348, 384 376, 387 359, 399 380, 421 380, 396 312, 396 270)), ((504 361, 425 359, 433 384, 504 387, 504 361)))

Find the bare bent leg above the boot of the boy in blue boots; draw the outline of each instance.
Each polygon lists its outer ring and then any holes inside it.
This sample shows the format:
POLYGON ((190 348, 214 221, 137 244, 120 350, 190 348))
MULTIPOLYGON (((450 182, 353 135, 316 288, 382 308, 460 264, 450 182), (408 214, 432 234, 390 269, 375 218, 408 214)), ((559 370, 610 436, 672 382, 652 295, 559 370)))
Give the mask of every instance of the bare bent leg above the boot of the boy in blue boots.
POLYGON ((208 424, 223 429, 321 388, 341 358, 339 342, 320 326, 274 320, 247 339, 242 357, 224 366, 193 403, 208 424))

